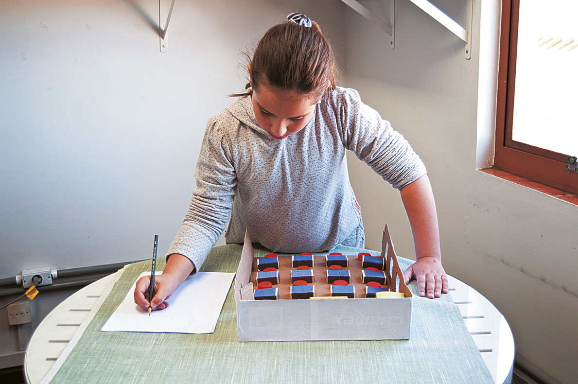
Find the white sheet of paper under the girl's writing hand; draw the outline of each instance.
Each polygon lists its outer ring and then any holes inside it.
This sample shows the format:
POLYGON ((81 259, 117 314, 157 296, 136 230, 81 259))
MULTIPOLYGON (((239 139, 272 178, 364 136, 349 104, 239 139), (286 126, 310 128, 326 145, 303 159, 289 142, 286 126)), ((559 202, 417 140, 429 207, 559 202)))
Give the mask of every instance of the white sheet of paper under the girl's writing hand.
MULTIPOLYGON (((142 276, 150 276, 150 272, 143 272, 139 278, 142 276)), ((224 272, 188 276, 166 300, 169 307, 153 311, 150 316, 135 304, 135 281, 102 331, 213 333, 234 276, 224 272)))

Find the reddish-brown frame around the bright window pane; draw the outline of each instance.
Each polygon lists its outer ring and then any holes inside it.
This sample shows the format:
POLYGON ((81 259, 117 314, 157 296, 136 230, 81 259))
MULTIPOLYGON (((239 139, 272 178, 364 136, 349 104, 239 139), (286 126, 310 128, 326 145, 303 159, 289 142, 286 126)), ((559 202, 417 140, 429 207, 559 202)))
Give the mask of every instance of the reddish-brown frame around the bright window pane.
POLYGON ((512 140, 520 0, 502 0, 494 168, 578 194, 578 173, 565 170, 568 155, 512 140))

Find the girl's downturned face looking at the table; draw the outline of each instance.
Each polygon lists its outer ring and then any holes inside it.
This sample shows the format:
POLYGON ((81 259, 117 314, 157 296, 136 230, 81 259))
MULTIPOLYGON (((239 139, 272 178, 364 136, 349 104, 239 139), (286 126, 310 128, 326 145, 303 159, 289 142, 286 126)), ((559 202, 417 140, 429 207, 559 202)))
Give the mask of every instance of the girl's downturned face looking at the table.
POLYGON ((288 98, 262 84, 253 90, 253 110, 260 127, 273 139, 284 139, 301 131, 313 117, 316 102, 307 95, 288 98))

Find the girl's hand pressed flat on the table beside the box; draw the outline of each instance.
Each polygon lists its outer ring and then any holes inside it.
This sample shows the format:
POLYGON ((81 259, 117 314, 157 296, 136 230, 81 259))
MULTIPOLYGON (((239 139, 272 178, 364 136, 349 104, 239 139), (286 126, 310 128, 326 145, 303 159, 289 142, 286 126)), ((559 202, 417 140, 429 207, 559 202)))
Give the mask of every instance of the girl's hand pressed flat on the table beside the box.
POLYGON ((405 283, 412 278, 417 280, 417 292, 420 296, 429 298, 440 297, 447 293, 447 275, 441 261, 434 257, 421 257, 403 273, 405 283))

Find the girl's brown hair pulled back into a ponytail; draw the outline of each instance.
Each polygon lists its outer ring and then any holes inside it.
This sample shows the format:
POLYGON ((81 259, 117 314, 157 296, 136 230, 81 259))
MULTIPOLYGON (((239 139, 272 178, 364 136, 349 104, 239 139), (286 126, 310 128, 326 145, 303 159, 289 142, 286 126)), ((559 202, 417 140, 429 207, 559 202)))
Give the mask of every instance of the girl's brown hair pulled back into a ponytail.
POLYGON ((250 83, 243 93, 251 95, 260 86, 287 94, 306 94, 317 101, 335 88, 335 55, 317 23, 305 27, 285 21, 274 25, 259 41, 250 61, 250 83))

